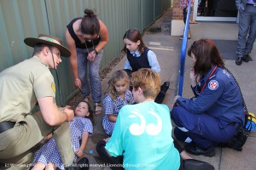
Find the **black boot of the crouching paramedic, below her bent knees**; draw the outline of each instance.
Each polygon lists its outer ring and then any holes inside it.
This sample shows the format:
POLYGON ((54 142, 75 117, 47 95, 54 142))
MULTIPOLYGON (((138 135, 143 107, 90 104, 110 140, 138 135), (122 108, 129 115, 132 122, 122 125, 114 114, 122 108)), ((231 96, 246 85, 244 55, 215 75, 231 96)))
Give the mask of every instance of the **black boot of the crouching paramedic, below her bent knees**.
POLYGON ((185 145, 185 150, 189 154, 192 154, 194 156, 201 156, 201 155, 203 155, 203 156, 212 157, 212 156, 216 155, 215 150, 214 150, 214 148, 212 146, 209 147, 209 148, 201 148, 201 147, 197 146, 194 143, 186 144, 185 145))

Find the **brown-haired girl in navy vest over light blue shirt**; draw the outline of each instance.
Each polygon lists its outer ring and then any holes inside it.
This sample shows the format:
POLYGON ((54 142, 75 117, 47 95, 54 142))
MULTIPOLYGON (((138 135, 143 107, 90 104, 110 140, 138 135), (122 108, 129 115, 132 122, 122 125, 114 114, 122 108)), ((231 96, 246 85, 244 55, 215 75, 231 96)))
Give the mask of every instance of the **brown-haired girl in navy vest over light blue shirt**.
MULTIPOLYGON (((156 55, 153 51, 146 47, 140 31, 138 31, 136 28, 126 31, 123 40, 125 42, 123 51, 125 51, 127 55, 124 70, 129 75, 141 68, 150 68, 153 71, 160 73, 160 65, 156 55)), ((160 104, 163 102, 169 86, 170 82, 164 82, 164 84, 161 85, 160 93, 154 100, 156 103, 160 104)))

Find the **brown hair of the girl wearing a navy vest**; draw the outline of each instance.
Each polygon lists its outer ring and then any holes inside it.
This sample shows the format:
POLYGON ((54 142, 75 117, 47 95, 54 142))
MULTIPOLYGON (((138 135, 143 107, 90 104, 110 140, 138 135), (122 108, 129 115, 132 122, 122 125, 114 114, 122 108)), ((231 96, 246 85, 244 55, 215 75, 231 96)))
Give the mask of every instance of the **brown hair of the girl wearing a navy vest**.
MULTIPOLYGON (((141 36, 140 31, 137 28, 132 28, 128 31, 125 32, 125 35, 123 37, 123 40, 127 38, 128 40, 130 40, 131 42, 137 42, 140 41, 140 45, 138 46, 138 51, 140 52, 140 54, 143 54, 144 52, 144 48, 146 47, 144 42, 143 42, 143 38, 141 36)), ((122 49, 122 51, 125 51, 125 53, 127 52, 127 48, 126 46, 122 49)))

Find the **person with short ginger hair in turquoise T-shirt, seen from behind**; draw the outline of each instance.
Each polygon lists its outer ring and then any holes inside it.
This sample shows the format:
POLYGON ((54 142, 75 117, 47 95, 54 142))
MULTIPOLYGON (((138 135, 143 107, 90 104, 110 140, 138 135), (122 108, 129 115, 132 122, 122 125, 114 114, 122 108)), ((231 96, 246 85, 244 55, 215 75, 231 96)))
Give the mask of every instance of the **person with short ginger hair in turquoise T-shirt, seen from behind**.
POLYGON ((192 159, 183 147, 172 139, 170 110, 167 105, 154 102, 160 91, 160 75, 150 69, 141 69, 132 73, 131 82, 137 105, 122 107, 111 138, 101 140, 96 145, 96 151, 102 161, 111 165, 112 169, 119 170, 213 170, 211 164, 192 159), (180 156, 183 158, 184 168, 179 168, 180 156), (143 166, 129 168, 129 165, 143 166))

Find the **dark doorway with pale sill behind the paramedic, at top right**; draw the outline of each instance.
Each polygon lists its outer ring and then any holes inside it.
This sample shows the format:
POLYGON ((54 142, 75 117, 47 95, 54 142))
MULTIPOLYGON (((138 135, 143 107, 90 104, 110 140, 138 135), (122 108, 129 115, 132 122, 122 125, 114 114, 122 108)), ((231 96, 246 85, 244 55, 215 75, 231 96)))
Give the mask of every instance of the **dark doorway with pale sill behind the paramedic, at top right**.
POLYGON ((201 21, 236 21, 235 0, 195 0, 194 19, 201 21))

